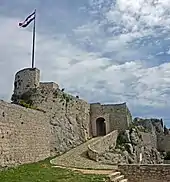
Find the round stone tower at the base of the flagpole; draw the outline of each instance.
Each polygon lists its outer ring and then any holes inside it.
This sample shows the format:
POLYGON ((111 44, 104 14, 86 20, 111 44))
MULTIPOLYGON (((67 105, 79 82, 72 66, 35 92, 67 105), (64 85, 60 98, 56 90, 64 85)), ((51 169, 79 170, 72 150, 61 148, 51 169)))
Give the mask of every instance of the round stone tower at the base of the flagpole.
POLYGON ((37 68, 25 68, 18 71, 14 81, 14 95, 20 96, 31 88, 39 87, 40 70, 37 68))

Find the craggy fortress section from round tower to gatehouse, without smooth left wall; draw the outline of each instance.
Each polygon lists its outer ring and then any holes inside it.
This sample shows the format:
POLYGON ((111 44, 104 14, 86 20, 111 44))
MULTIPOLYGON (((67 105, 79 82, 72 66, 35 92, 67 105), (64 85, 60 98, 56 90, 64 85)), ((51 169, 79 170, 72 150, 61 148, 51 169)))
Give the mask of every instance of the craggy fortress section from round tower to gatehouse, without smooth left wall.
POLYGON ((17 104, 24 101, 47 115, 51 129, 51 155, 64 153, 96 136, 96 119, 99 117, 106 120, 106 128, 99 126, 106 130, 105 134, 128 127, 131 114, 126 103, 99 104, 96 108, 96 104, 89 104, 60 90, 54 82, 39 82, 39 77, 37 68, 17 72, 13 101, 17 104))

